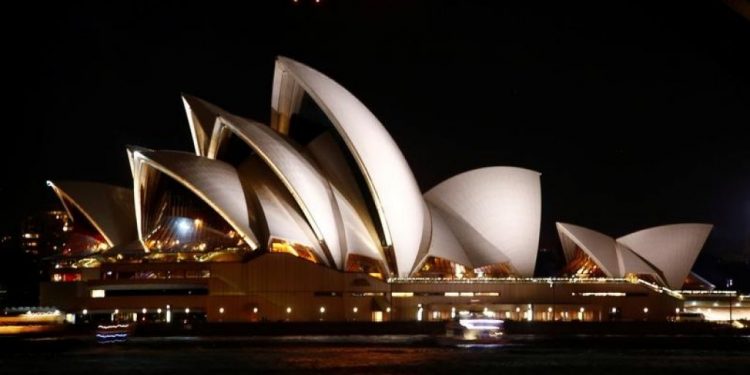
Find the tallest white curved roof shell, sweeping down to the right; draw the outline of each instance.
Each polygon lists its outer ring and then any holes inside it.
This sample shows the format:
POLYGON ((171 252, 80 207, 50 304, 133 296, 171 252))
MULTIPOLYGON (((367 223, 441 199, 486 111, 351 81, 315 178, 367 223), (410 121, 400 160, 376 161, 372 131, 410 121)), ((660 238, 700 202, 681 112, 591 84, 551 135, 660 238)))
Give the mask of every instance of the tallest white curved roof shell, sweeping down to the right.
MULTIPOLYGON (((276 61, 271 105, 284 111, 298 88, 322 109, 352 153, 378 211, 386 246, 393 246, 400 276, 408 276, 427 243, 429 215, 419 187, 396 142, 378 119, 349 91, 294 60, 276 61), (293 78, 296 84, 282 84, 293 78)), ((289 114, 287 114, 289 115, 289 114)))

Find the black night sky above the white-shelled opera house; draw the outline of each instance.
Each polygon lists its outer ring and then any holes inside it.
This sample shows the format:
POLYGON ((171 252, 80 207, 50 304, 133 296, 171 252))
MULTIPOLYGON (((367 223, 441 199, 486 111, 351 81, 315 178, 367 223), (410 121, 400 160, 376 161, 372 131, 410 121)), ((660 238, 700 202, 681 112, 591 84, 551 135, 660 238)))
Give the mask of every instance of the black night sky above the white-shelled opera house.
POLYGON ((707 251, 750 253, 750 21, 721 1, 300 2, 4 12, 0 229, 55 203, 46 179, 130 185, 127 144, 192 150, 180 92, 268 122, 286 55, 359 97, 423 191, 542 172, 542 247, 555 221, 710 222, 707 251))

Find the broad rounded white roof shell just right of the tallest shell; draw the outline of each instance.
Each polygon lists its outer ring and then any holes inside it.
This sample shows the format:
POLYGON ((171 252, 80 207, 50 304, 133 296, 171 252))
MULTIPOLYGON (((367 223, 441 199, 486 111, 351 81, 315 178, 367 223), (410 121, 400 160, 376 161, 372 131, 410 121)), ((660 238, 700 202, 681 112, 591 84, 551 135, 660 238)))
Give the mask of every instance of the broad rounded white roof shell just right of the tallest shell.
POLYGON ((425 194, 440 209, 474 267, 509 263, 533 276, 542 214, 540 174, 488 167, 451 177, 425 194))

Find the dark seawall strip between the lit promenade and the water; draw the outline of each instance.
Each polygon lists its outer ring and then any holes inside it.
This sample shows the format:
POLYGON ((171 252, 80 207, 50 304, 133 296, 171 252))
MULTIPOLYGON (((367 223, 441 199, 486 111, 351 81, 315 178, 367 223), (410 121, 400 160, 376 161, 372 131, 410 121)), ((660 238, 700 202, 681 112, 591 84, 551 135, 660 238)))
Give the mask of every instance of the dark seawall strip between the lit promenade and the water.
MULTIPOLYGON (((257 322, 257 323, 193 323, 193 324, 136 324, 130 337, 283 337, 283 336, 415 336, 445 335, 447 322, 257 322)), ((4 338, 65 338, 94 337, 95 325, 52 326, 49 331, 4 338)), ((508 336, 534 335, 566 338, 575 336, 646 337, 646 336, 750 336, 750 327, 737 328, 714 322, 519 322, 506 321, 508 336)))

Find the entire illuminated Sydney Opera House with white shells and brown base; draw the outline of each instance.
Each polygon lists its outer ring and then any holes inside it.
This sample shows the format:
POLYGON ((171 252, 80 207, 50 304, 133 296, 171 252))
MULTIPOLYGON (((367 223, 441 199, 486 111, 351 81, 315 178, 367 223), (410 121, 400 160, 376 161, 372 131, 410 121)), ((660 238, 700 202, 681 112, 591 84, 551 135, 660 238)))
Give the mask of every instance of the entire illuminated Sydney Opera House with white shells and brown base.
POLYGON ((170 321, 664 319, 711 225, 620 238, 558 223, 534 277, 540 174, 489 167, 423 193, 349 91, 276 61, 270 126, 183 96, 194 152, 128 147, 131 188, 50 181, 73 221, 43 305, 170 321))

